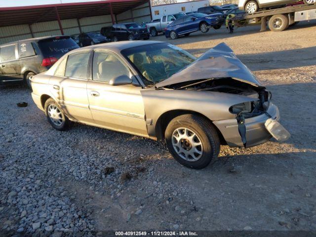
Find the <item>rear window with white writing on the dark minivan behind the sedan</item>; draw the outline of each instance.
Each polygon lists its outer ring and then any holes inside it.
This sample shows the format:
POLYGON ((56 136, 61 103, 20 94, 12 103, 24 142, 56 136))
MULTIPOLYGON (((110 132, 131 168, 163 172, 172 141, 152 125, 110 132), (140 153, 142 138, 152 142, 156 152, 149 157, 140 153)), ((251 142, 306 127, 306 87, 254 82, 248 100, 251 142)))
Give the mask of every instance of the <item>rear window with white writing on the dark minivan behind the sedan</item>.
POLYGON ((64 55, 75 48, 79 48, 78 44, 70 37, 40 40, 39 46, 45 56, 64 55))

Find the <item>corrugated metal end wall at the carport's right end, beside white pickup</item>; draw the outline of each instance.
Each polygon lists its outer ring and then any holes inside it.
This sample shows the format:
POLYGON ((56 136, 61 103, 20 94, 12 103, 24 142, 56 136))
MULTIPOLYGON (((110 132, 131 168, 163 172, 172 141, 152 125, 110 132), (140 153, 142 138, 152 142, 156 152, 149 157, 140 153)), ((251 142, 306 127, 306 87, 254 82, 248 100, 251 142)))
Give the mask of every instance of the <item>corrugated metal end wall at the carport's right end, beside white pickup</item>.
POLYGON ((146 2, 133 9, 130 9, 121 14, 118 14, 117 20, 118 20, 118 23, 124 23, 124 22, 142 23, 142 22, 151 21, 149 3, 146 2))

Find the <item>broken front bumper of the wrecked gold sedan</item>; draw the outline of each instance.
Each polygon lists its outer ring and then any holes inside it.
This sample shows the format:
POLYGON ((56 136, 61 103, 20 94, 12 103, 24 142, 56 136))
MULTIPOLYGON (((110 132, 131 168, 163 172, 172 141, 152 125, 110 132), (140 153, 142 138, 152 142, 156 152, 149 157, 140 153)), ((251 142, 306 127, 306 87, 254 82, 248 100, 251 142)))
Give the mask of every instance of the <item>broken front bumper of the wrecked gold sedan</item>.
MULTIPOLYGON (((270 104, 267 113, 274 119, 279 120, 280 114, 274 104, 270 104)), ((253 147, 270 140, 272 137, 266 129, 265 122, 269 119, 266 114, 253 118, 245 118, 246 126, 246 147, 253 147)), ((230 147, 243 147, 243 143, 238 132, 237 119, 225 119, 213 121, 214 125, 220 130, 224 139, 230 147)))

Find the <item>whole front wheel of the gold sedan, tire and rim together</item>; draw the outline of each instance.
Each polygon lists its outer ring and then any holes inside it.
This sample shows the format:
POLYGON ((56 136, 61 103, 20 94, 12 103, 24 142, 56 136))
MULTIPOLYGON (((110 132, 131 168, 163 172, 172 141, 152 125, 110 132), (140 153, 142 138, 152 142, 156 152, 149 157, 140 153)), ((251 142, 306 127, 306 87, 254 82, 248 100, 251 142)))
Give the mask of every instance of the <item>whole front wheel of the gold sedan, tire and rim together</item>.
POLYGON ((219 136, 210 121, 191 114, 178 116, 169 122, 165 141, 179 163, 194 169, 206 167, 220 150, 219 136))

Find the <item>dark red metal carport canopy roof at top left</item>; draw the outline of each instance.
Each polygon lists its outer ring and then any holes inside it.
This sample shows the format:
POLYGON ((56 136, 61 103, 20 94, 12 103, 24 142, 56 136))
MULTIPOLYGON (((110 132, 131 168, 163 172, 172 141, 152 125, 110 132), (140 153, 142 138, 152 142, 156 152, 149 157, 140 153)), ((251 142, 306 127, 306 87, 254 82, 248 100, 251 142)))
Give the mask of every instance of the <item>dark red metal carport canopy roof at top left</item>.
MULTIPOLYGON (((80 19, 82 17, 113 15, 144 4, 148 0, 99 0, 33 6, 0 7, 0 27, 34 24, 43 21, 80 19), (111 11, 112 8, 112 11, 111 11), (58 16, 60 19, 58 19, 58 16)), ((61 32, 62 28, 60 29, 61 32)))

